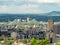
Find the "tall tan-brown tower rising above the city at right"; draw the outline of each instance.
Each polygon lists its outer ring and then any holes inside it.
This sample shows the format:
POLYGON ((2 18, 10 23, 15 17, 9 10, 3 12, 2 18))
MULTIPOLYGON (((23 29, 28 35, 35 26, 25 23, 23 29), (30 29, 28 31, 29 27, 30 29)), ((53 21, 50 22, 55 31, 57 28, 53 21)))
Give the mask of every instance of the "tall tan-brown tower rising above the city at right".
POLYGON ((46 36, 50 40, 50 43, 54 42, 55 33, 54 33, 54 21, 53 21, 53 19, 48 20, 46 36))

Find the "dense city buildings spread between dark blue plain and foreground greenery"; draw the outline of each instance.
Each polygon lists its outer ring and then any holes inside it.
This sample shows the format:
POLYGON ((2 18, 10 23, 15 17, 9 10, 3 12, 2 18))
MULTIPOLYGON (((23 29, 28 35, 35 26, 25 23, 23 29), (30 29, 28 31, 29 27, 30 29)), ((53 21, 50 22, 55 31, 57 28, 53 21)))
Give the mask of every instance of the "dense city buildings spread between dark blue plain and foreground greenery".
POLYGON ((26 20, 15 19, 14 21, 0 22, 0 37, 5 37, 7 41, 10 41, 8 39, 25 39, 26 42, 29 42, 32 38, 36 40, 45 40, 47 38, 49 43, 55 43, 56 37, 59 37, 60 34, 59 26, 59 22, 54 22, 53 19, 49 19, 48 22, 30 18, 26 20))

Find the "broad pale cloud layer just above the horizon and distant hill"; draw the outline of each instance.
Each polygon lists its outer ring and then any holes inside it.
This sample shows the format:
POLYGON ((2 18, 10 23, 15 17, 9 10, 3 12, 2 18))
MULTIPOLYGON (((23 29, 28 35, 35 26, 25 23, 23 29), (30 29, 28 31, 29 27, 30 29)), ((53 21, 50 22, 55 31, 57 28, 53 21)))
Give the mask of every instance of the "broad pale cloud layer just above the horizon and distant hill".
POLYGON ((17 13, 17 14, 26 14, 26 13, 33 13, 33 14, 40 14, 40 13, 47 13, 50 11, 60 11, 59 4, 51 4, 51 3, 41 3, 41 4, 24 4, 20 6, 16 5, 0 5, 0 13, 17 13))

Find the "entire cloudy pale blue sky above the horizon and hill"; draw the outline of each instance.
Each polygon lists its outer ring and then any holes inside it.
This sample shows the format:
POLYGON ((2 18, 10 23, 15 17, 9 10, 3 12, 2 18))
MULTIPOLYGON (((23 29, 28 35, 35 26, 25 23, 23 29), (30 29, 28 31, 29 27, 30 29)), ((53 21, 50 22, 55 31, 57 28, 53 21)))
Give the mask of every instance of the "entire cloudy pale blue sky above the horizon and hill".
POLYGON ((40 14, 60 11, 60 0, 0 0, 0 13, 40 14))

